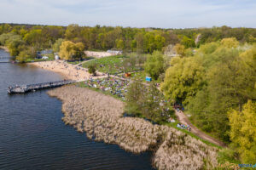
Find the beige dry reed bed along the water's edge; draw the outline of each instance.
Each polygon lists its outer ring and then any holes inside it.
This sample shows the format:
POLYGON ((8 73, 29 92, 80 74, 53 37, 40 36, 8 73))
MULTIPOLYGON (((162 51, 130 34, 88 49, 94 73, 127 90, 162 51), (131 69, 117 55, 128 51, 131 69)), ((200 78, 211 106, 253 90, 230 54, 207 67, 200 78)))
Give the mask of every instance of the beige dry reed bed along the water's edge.
POLYGON ((48 94, 63 102, 63 122, 85 132, 89 139, 119 144, 133 153, 154 150, 153 165, 158 169, 217 167, 216 148, 175 128, 123 117, 125 104, 118 99, 73 85, 48 94))

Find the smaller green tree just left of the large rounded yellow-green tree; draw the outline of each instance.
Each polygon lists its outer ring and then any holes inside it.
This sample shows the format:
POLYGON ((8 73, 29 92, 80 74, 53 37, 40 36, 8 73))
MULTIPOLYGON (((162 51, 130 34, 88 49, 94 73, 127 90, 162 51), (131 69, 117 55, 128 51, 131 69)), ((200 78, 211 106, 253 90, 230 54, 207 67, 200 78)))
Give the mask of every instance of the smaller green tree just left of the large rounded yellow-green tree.
POLYGON ((165 59, 163 54, 161 54, 159 51, 154 51, 153 54, 148 54, 144 68, 150 77, 157 80, 160 74, 165 71, 164 64, 165 59))

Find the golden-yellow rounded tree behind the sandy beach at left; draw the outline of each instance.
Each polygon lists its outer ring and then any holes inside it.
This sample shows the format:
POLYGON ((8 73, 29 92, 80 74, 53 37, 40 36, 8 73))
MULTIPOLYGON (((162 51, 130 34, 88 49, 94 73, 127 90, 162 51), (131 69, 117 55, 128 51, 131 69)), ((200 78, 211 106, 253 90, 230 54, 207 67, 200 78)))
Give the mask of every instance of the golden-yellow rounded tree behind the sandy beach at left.
POLYGON ((61 43, 60 57, 65 60, 82 59, 84 56, 84 44, 65 41, 61 43))

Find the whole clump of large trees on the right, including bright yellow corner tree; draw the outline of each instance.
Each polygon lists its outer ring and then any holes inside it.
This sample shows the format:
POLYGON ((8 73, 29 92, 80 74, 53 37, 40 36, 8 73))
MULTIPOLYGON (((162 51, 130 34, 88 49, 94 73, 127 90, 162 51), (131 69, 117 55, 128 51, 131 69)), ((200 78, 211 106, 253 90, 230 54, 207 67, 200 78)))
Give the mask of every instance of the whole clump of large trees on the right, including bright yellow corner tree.
POLYGON ((161 90, 183 104, 203 131, 235 146, 241 161, 256 158, 256 44, 236 38, 201 45, 171 59, 161 90))

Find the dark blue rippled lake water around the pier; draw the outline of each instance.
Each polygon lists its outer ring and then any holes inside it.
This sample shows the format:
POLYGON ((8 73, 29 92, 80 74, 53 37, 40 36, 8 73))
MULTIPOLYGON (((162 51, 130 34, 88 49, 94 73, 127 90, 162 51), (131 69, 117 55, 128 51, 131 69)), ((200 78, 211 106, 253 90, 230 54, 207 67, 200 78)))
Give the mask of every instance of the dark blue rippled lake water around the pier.
MULTIPOLYGON (((0 61, 9 54, 0 50, 0 61), (2 59, 1 59, 2 57, 2 59)), ((61 101, 46 90, 7 94, 9 85, 61 80, 28 65, 0 63, 0 169, 152 169, 150 153, 134 155, 87 139, 61 121, 61 101)))

